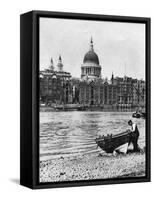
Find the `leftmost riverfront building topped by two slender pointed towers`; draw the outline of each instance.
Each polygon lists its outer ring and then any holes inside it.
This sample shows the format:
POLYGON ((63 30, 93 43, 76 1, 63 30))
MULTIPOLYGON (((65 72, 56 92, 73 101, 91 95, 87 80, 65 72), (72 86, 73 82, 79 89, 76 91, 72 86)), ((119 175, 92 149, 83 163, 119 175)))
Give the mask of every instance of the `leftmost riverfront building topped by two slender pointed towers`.
POLYGON ((48 69, 40 71, 40 101, 47 105, 72 102, 71 74, 63 70, 62 58, 59 56, 55 70, 51 59, 48 69))

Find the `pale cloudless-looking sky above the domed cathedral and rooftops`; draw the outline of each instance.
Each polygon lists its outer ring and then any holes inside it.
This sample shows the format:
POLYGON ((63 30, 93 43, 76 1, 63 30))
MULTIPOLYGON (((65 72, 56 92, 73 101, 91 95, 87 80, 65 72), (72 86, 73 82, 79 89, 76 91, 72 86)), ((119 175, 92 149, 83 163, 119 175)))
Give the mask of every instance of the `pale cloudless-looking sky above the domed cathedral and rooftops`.
POLYGON ((57 69, 81 77, 81 65, 93 38, 102 67, 102 78, 130 76, 145 80, 145 25, 72 19, 40 18, 40 69, 53 59, 57 69))

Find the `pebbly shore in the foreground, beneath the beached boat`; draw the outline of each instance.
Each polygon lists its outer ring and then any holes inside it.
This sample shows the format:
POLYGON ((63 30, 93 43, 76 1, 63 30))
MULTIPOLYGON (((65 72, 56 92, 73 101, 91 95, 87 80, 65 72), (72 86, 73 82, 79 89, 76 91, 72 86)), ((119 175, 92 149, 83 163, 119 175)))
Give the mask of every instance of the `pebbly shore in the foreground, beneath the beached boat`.
POLYGON ((145 176, 145 153, 90 154, 40 161, 40 182, 145 176))

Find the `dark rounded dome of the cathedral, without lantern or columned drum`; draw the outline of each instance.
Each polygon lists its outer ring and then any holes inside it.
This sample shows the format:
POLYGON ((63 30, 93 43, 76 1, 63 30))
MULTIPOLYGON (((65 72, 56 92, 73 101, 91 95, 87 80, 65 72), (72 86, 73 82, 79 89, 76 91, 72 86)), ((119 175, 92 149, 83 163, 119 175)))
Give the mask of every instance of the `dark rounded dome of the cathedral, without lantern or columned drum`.
POLYGON ((84 56, 83 63, 94 63, 99 65, 99 58, 93 50, 90 50, 84 56))

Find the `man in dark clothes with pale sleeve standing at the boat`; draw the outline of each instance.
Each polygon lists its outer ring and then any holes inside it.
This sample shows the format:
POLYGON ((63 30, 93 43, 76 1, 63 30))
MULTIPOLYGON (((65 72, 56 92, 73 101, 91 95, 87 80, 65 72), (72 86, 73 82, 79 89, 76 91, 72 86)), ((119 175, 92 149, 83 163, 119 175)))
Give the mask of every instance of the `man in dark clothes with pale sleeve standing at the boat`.
POLYGON ((128 125, 131 126, 131 138, 130 138, 130 143, 133 143, 134 146, 134 151, 139 151, 140 148, 138 146, 138 138, 139 138, 139 130, 138 127, 135 123, 132 122, 132 120, 128 121, 128 125))

